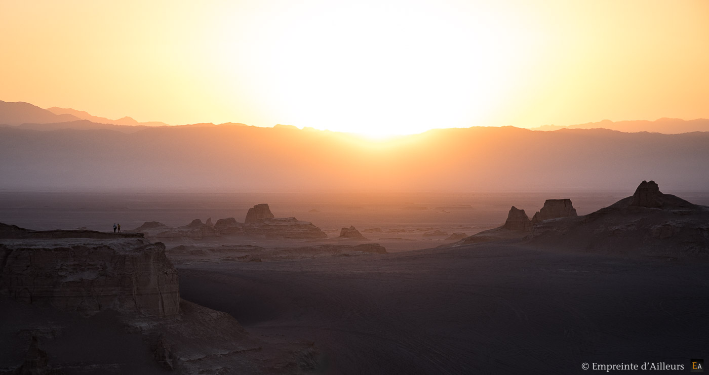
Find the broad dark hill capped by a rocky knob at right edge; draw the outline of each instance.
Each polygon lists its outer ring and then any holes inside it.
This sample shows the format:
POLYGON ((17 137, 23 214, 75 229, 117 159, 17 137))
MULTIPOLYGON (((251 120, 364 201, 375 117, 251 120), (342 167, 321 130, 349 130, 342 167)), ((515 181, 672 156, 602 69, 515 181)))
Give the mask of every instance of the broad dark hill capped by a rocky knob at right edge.
POLYGON ((709 207, 642 181, 635 194, 596 212, 537 223, 529 240, 616 254, 709 256, 709 207))

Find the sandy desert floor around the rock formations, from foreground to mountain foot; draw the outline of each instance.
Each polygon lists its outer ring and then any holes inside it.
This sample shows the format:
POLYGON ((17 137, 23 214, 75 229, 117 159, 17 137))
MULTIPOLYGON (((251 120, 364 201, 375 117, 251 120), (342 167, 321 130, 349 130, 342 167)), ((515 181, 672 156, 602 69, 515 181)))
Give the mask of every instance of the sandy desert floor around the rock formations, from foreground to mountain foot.
MULTIPOLYGON (((177 265, 183 298, 232 314, 251 335, 316 342, 327 374, 588 374, 584 362, 688 366, 709 347, 706 261, 552 252, 515 242, 420 250, 450 243, 426 232, 495 228, 512 205, 531 216, 545 198, 571 198, 584 215, 627 195, 0 192, 0 222, 37 230, 109 230, 114 222, 132 229, 148 220, 179 226, 194 218, 243 220, 247 208, 269 203, 277 216, 311 221, 330 239, 167 246, 381 243, 390 254, 177 265), (350 225, 369 240, 333 238, 350 225)), ((682 196, 709 204, 708 194, 682 196)), ((133 357, 148 361, 143 351, 133 357)))

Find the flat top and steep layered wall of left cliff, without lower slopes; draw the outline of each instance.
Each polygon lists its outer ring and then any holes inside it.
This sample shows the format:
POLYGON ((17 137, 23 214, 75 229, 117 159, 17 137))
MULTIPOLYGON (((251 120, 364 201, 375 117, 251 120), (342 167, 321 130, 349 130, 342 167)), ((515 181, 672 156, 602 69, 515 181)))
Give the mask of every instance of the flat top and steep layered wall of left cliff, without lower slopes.
POLYGON ((17 229, 13 240, 4 232, 6 240, 0 242, 1 295, 89 314, 106 309, 160 317, 179 313, 177 271, 162 243, 138 233, 17 229))

